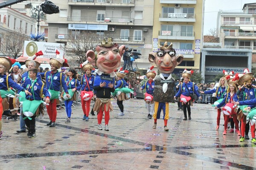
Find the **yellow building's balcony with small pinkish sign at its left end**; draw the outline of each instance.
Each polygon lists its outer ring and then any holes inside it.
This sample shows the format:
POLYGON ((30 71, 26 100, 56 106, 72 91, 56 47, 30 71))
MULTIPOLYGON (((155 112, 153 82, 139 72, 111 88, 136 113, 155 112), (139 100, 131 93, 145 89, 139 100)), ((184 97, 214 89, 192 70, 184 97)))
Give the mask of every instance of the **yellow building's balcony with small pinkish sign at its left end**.
POLYGON ((159 31, 158 39, 195 40, 195 31, 159 31))

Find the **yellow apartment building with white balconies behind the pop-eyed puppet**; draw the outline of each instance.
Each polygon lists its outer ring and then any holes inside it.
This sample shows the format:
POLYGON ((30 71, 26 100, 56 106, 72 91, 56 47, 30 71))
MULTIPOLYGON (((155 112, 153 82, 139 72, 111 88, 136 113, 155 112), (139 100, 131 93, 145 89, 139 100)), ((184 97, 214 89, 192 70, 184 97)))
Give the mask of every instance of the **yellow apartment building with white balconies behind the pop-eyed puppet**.
POLYGON ((184 68, 200 68, 203 11, 202 0, 154 1, 153 51, 172 42, 177 54, 184 56, 173 72, 178 76, 184 68))

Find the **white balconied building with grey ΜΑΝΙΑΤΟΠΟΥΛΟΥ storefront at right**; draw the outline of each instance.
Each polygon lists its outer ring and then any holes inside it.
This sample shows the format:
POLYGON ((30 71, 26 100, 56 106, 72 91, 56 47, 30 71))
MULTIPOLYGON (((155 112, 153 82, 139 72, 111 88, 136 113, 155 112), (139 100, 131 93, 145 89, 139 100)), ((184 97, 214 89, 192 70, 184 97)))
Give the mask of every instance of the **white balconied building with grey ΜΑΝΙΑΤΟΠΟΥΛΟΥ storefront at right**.
MULTIPOLYGON (((251 70, 256 52, 256 3, 244 4, 243 12, 218 12, 217 32, 220 48, 204 48, 202 74, 210 82, 222 70, 242 73, 251 70)), ((215 44, 216 46, 216 44, 215 44)))

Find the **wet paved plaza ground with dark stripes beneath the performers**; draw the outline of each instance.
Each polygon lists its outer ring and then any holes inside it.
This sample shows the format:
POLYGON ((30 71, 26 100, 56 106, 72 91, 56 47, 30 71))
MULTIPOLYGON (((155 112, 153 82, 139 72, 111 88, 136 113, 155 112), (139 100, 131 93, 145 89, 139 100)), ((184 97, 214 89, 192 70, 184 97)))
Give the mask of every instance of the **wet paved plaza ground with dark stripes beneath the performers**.
MULTIPOLYGON (((147 118, 144 101, 124 102, 125 115, 116 101, 110 115, 109 130, 97 130, 97 116, 82 120, 82 109, 73 108, 71 123, 66 112, 58 110, 56 127, 36 119, 36 137, 29 139, 19 130, 19 119, 3 117, 0 140, 1 170, 256 170, 256 144, 239 142, 237 133, 223 136, 224 120, 215 131, 217 113, 211 105, 194 104, 192 120, 183 121, 177 103, 170 104, 169 132, 163 120, 147 118)), ((93 104, 93 103, 92 103, 93 104)), ((102 121, 104 125, 104 119, 102 121)))

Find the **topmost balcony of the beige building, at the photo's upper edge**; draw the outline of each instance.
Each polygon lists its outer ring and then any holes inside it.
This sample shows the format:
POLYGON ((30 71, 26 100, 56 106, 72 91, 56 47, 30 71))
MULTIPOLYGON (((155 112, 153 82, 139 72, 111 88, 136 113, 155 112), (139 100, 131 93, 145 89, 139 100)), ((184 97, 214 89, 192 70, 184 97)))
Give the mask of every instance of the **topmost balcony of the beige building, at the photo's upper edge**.
POLYGON ((135 6, 135 0, 68 0, 68 5, 81 5, 81 6, 135 6))

